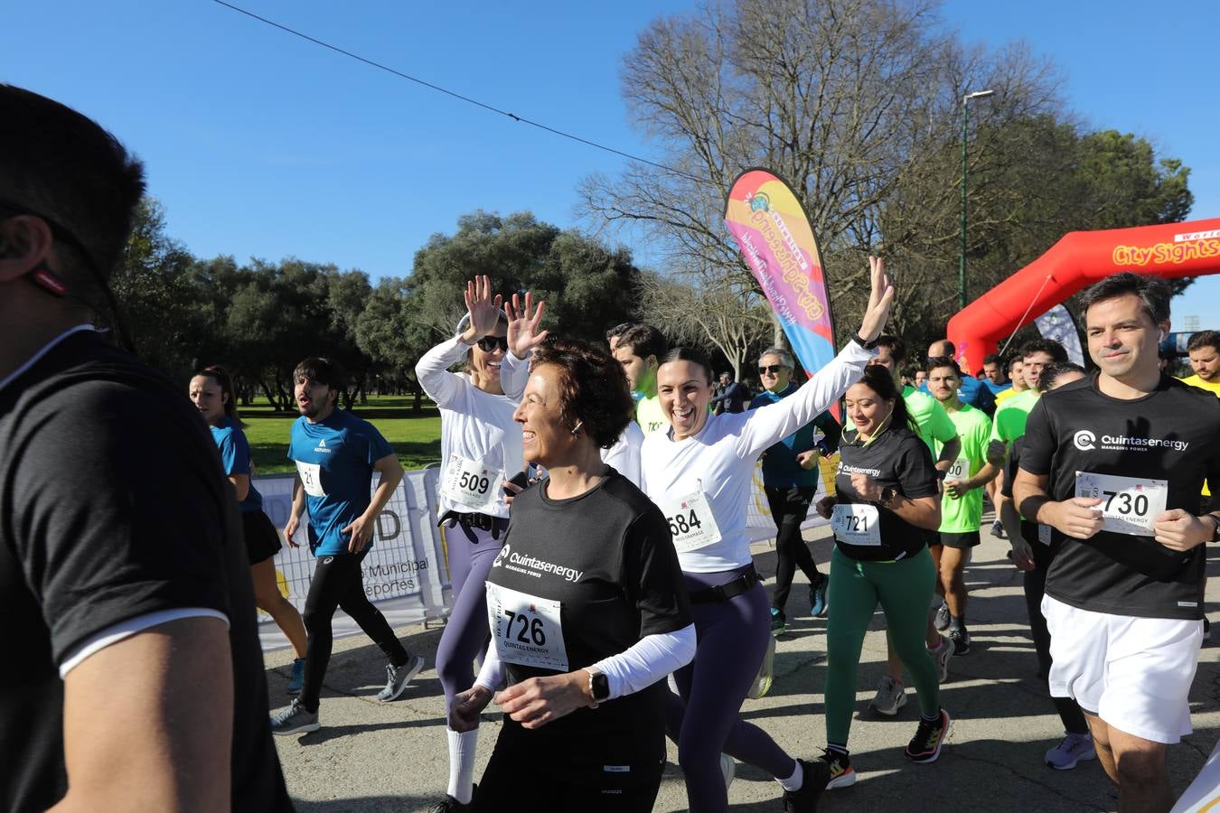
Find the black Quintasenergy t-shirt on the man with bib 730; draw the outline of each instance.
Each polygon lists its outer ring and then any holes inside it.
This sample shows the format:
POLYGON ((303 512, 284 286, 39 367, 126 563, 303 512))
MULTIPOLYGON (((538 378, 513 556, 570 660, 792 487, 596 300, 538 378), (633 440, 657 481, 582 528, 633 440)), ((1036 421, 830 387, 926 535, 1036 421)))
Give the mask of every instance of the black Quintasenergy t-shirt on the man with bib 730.
POLYGON ((1049 477, 1052 500, 1103 500, 1107 528, 1093 538, 1052 529, 1048 595, 1118 616, 1203 618, 1205 546, 1170 550, 1152 525, 1165 509, 1196 513, 1204 479, 1220 483, 1220 400, 1168 375, 1141 399, 1114 399, 1094 374, 1033 407, 1020 466, 1049 477))

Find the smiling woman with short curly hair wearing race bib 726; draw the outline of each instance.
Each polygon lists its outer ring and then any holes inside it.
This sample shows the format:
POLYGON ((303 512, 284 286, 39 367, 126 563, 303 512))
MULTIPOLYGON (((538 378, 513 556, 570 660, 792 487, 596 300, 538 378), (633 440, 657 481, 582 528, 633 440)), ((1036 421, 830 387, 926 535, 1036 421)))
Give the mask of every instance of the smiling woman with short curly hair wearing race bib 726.
POLYGON ((516 421, 526 460, 548 477, 514 499, 487 578, 494 648, 450 711, 453 729, 472 728, 508 678, 475 809, 653 807, 662 678, 689 662, 695 636, 665 518, 601 462, 633 412, 622 367, 604 350, 551 341, 533 351, 516 421))

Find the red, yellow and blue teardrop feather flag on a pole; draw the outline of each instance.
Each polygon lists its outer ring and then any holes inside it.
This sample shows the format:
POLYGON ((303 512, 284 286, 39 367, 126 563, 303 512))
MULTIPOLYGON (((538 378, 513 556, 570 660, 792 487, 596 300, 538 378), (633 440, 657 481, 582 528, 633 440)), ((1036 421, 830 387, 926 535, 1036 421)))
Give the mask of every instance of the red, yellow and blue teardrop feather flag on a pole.
POLYGON ((810 375, 834 358, 831 300, 809 218, 783 180, 766 169, 737 176, 725 201, 737 239, 800 366, 810 375))

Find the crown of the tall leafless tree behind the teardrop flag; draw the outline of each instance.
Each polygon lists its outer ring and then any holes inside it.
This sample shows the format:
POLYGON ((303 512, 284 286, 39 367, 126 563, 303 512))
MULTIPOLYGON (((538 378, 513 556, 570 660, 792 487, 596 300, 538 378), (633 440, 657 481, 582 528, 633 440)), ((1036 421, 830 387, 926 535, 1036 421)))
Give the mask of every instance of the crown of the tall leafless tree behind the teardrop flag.
MULTIPOLYGON (((887 219, 897 190, 919 186, 937 212, 953 206, 960 186, 949 156, 960 144, 965 91, 997 90, 972 111, 976 123, 1058 105, 1044 63, 1021 48, 964 49, 927 0, 712 1, 653 22, 626 56, 622 83, 636 123, 672 171, 633 166, 616 179, 587 178, 586 213, 642 225, 669 262, 758 290, 721 218, 733 178, 765 166, 809 216, 833 306, 866 285, 865 254, 926 236, 917 218, 887 219), (941 173, 931 189, 908 180, 930 173, 941 173)), ((993 155, 985 147, 976 163, 993 155)), ((936 239, 952 234, 944 228, 936 239)), ((904 296, 915 297, 905 311, 919 312, 924 294, 900 289, 898 312, 904 296)), ((850 321, 837 314, 836 323, 850 321)))

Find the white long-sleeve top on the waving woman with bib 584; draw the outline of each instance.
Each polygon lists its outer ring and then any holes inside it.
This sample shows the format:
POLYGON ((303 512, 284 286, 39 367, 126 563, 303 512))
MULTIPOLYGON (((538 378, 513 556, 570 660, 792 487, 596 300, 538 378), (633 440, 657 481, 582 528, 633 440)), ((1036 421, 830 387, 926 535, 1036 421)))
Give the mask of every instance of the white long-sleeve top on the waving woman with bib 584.
MULTIPOLYGON (((682 440, 672 440, 671 431, 644 439, 640 489, 671 519, 671 527, 676 527, 675 522, 684 527, 689 514, 683 512, 692 506, 704 509, 697 502, 703 494, 720 531, 717 540, 694 550, 683 550, 675 540, 683 570, 720 573, 749 564, 745 508, 754 462, 772 444, 830 408, 860 379, 872 356, 852 341, 782 401, 749 412, 708 416, 698 434, 682 440)), ((708 517, 700 516, 704 529, 709 527, 706 520, 708 517)))

